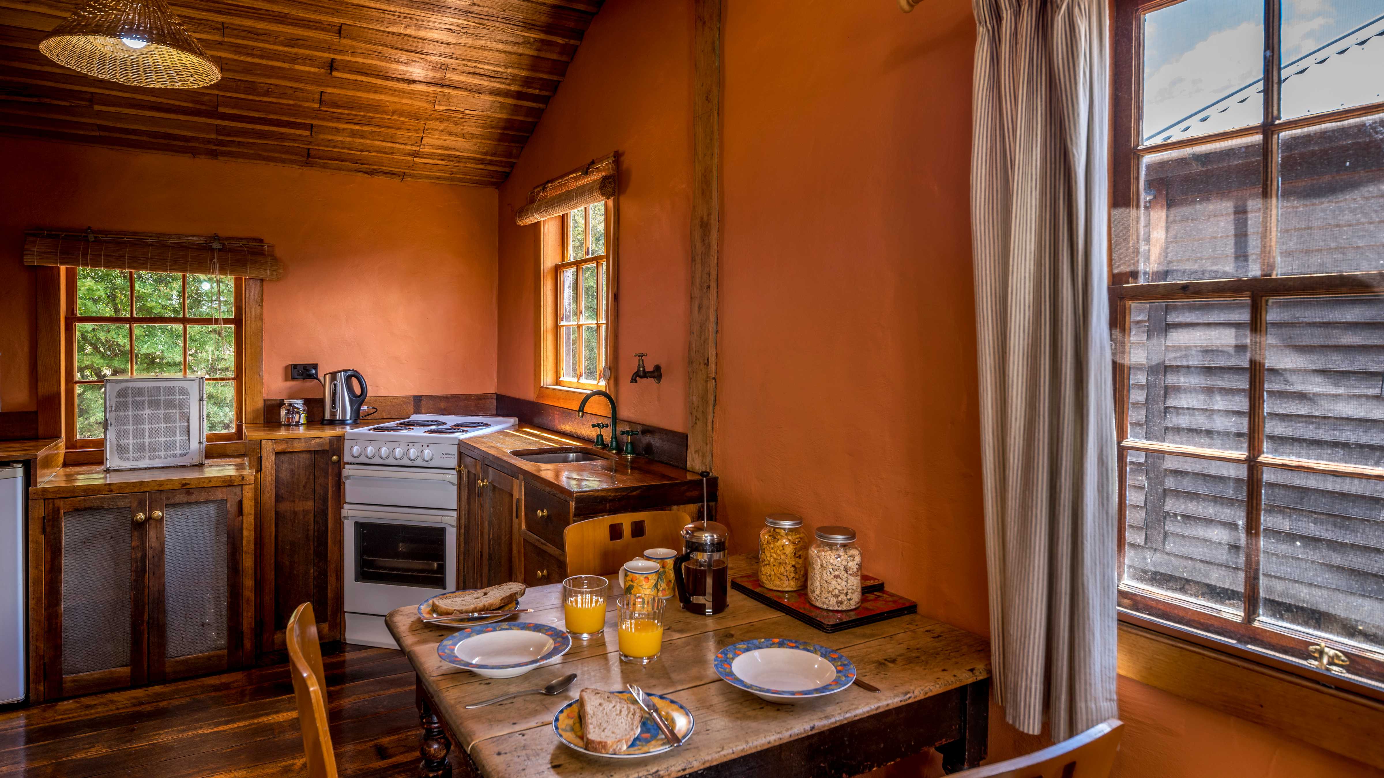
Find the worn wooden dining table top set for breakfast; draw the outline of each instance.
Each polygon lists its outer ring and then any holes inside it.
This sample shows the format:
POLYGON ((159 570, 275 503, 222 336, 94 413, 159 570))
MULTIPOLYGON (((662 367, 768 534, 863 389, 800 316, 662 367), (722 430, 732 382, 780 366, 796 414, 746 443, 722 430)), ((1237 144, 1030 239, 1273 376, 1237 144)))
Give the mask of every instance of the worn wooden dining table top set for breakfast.
MULTIPOLYGON (((747 557, 731 558, 731 575, 749 572, 753 566, 747 557)), ((520 604, 534 610, 515 620, 562 627, 561 595, 561 584, 530 588, 520 604)), ((612 608, 610 599, 606 606, 612 608)), ((439 659, 437 644, 453 630, 424 624, 417 608, 400 608, 386 622, 435 702, 436 713, 455 736, 455 748, 487 778, 666 778, 756 752, 778 756, 772 749, 805 746, 815 734, 840 738, 846 731, 843 725, 850 721, 884 723, 894 709, 907 709, 929 698, 948 699, 948 692, 970 684, 977 684, 974 688, 981 692, 976 695, 978 705, 984 706, 988 696, 984 681, 990 677, 990 641, 926 616, 900 616, 828 634, 732 590, 727 609, 716 616, 688 613, 674 601, 664 617, 663 652, 653 664, 639 667, 620 662, 614 619, 608 617, 602 637, 573 641, 572 649, 554 663, 502 680, 482 678, 439 659), (848 688, 811 703, 765 703, 720 680, 711 666, 718 649, 750 638, 801 640, 840 651, 855 663, 859 677, 880 691, 848 688), (465 710, 468 703, 538 687, 566 673, 577 673, 577 682, 556 696, 529 695, 487 710, 465 710), (558 745, 552 716, 559 707, 576 699, 581 688, 621 689, 626 681, 670 695, 692 710, 696 730, 686 745, 662 756, 621 761, 584 756, 558 745), (875 718, 879 716, 884 718, 875 718)), ((959 713, 955 710, 952 716, 959 713)), ((923 720, 909 720, 908 725, 923 724, 923 720)), ((847 739, 836 748, 850 749, 853 743, 847 739)), ((812 774, 792 760, 785 761, 782 770, 785 775, 812 774)))

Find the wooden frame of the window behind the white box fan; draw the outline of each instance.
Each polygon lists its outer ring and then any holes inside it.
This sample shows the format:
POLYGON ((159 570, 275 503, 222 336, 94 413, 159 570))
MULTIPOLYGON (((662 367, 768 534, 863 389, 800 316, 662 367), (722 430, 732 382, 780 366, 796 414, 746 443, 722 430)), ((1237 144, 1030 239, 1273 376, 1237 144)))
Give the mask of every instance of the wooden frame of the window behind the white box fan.
MULTIPOLYGON (((199 317, 134 317, 133 291, 130 317, 78 317, 76 316, 76 267, 36 267, 37 273, 37 388, 39 424, 42 437, 62 437, 65 443, 64 465, 89 465, 104 461, 104 443, 91 446, 100 439, 76 437, 76 350, 73 347, 75 324, 78 320, 100 323, 113 320, 131 324, 216 324, 212 318, 199 317)), ((230 277, 228 277, 230 278, 230 277)), ((264 421, 264 289, 260 278, 235 277, 237 357, 235 357, 235 401, 237 417, 234 432, 208 435, 206 457, 244 457, 245 425, 264 421)), ((185 280, 184 280, 185 287, 185 280)), ((185 292, 185 288, 184 288, 185 292)), ((184 296, 185 299, 185 296, 184 296)), ((231 324, 233 317, 224 317, 223 324, 231 324)), ((185 349, 185 341, 184 341, 185 349)), ((134 343, 130 343, 131 360, 134 343)))

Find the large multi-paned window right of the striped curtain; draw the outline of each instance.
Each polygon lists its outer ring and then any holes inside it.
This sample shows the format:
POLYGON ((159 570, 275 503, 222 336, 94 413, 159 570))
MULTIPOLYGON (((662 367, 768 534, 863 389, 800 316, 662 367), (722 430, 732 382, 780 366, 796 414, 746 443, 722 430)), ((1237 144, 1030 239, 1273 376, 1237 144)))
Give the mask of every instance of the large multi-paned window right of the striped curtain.
POLYGON ((1113 39, 1121 609, 1384 688, 1384 6, 1113 39))

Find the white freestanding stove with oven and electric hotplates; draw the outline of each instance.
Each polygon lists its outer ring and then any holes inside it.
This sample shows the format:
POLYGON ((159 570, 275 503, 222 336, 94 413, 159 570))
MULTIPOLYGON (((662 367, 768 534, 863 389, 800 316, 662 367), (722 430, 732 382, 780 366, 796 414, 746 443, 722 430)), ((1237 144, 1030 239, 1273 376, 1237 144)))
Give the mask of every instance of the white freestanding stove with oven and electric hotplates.
POLYGON ((415 414, 346 433, 346 642, 399 648, 385 615, 457 583, 457 442, 509 417, 415 414))

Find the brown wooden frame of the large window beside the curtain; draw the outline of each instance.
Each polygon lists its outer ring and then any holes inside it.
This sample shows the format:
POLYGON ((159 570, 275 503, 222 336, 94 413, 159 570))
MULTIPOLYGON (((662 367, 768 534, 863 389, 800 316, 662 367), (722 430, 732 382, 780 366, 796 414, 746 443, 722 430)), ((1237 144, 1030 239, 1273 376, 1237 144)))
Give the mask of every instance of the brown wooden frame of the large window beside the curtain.
MULTIPOLYGON (((1312 275, 1273 275, 1277 259, 1277 203, 1279 203, 1279 136, 1284 132, 1329 125, 1347 119, 1384 112, 1384 102, 1373 102, 1293 119, 1279 119, 1277 78, 1264 79, 1264 114, 1258 125, 1179 138, 1168 143, 1142 143, 1142 28, 1143 15, 1182 0, 1111 0, 1111 233, 1110 233, 1110 325, 1113 332, 1116 425, 1118 451, 1118 566, 1120 619, 1129 624, 1174 633, 1181 638, 1254 659, 1293 674, 1312 678, 1331 687, 1348 689, 1376 699, 1384 699, 1384 652, 1327 635, 1295 628, 1282 623, 1272 626, 1258 619, 1259 612, 1259 554, 1261 501, 1264 469, 1291 469, 1384 480, 1384 468, 1338 465, 1294 460, 1266 454, 1265 425, 1265 343, 1268 332, 1268 303, 1272 299, 1295 296, 1331 296, 1380 293, 1384 273, 1330 273, 1312 275), (1139 161, 1143 156, 1258 136, 1262 147, 1261 191, 1261 267, 1259 277, 1212 281, 1164 281, 1140 278, 1139 263, 1139 161), (1124 220, 1120 216, 1124 216, 1124 220), (1175 446, 1129 437, 1129 328, 1131 309, 1136 302, 1186 302, 1240 299, 1250 303, 1250 408, 1248 444, 1244 453, 1175 446), (1128 455, 1131 451, 1172 454, 1203 460, 1244 464, 1246 534, 1244 534, 1244 599, 1243 613, 1222 610, 1205 602, 1193 601, 1164 591, 1156 591, 1124 581, 1125 512, 1128 487, 1128 455), (1308 664, 1308 646, 1324 642, 1345 653, 1351 660, 1351 676, 1327 673, 1308 664), (1363 670, 1363 674, 1356 674, 1363 670)), ((1265 3, 1265 73, 1280 72, 1279 29, 1282 0, 1265 3)))

